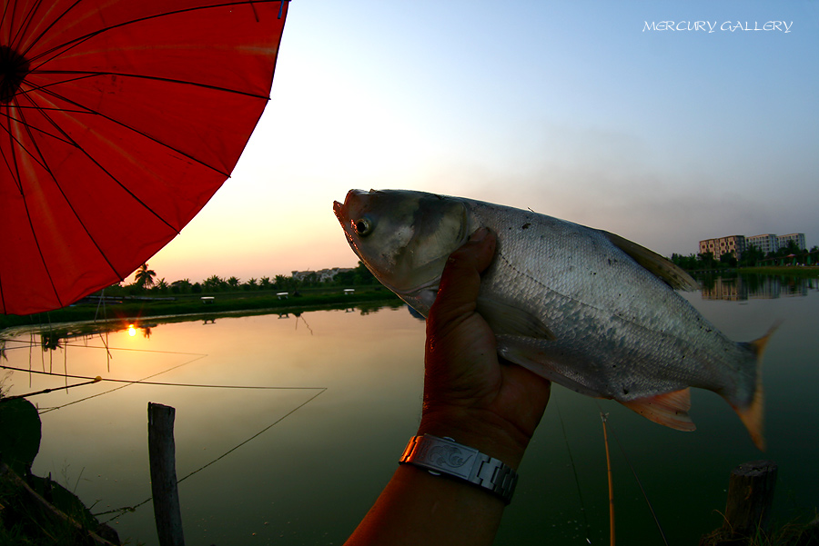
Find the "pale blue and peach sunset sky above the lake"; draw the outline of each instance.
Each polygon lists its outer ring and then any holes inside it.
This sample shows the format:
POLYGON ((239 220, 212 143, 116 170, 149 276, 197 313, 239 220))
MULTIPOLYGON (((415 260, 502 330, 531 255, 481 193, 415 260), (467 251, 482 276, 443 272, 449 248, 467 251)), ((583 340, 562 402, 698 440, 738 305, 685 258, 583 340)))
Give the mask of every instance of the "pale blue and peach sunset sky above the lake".
POLYGON ((531 208, 667 256, 733 234, 819 244, 817 0, 288 10, 267 109, 148 260, 157 279, 355 266, 332 213, 353 188, 531 208))

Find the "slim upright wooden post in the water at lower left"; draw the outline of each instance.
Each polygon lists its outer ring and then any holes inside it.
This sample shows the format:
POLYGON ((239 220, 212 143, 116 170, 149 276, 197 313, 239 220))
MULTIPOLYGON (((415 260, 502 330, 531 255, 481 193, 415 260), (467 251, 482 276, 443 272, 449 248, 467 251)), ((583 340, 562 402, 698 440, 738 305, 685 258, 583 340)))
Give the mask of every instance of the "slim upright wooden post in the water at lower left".
POLYGON ((160 546, 185 546, 177 490, 175 412, 170 406, 148 402, 148 458, 160 546))

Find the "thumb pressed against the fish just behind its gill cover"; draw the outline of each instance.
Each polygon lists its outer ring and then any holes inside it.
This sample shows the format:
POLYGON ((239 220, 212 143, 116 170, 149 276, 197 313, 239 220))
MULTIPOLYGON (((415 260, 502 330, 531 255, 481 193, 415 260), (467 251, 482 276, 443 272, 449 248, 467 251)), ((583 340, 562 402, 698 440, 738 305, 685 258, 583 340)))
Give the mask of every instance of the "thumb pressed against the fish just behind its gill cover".
POLYGON ((463 313, 474 309, 480 291, 480 273, 489 267, 495 253, 495 235, 487 228, 472 233, 470 240, 450 254, 440 277, 436 314, 463 313))

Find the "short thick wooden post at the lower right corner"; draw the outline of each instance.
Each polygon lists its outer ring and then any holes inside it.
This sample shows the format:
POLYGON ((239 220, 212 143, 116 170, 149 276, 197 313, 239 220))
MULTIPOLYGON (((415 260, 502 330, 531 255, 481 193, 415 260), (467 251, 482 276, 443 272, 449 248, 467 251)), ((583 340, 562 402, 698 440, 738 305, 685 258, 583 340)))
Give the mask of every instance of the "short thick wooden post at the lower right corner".
POLYGON ((776 463, 743 462, 731 472, 723 530, 734 536, 753 536, 757 529, 768 531, 776 485, 776 463))

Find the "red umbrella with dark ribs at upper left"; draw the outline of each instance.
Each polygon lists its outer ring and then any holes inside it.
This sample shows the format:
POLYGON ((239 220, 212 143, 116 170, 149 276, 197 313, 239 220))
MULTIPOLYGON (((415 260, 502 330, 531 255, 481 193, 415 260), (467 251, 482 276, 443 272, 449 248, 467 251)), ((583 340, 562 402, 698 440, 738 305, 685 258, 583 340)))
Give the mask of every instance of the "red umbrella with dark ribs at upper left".
POLYGON ((0 313, 116 283, 225 181, 268 102, 284 0, 6 0, 0 313))

